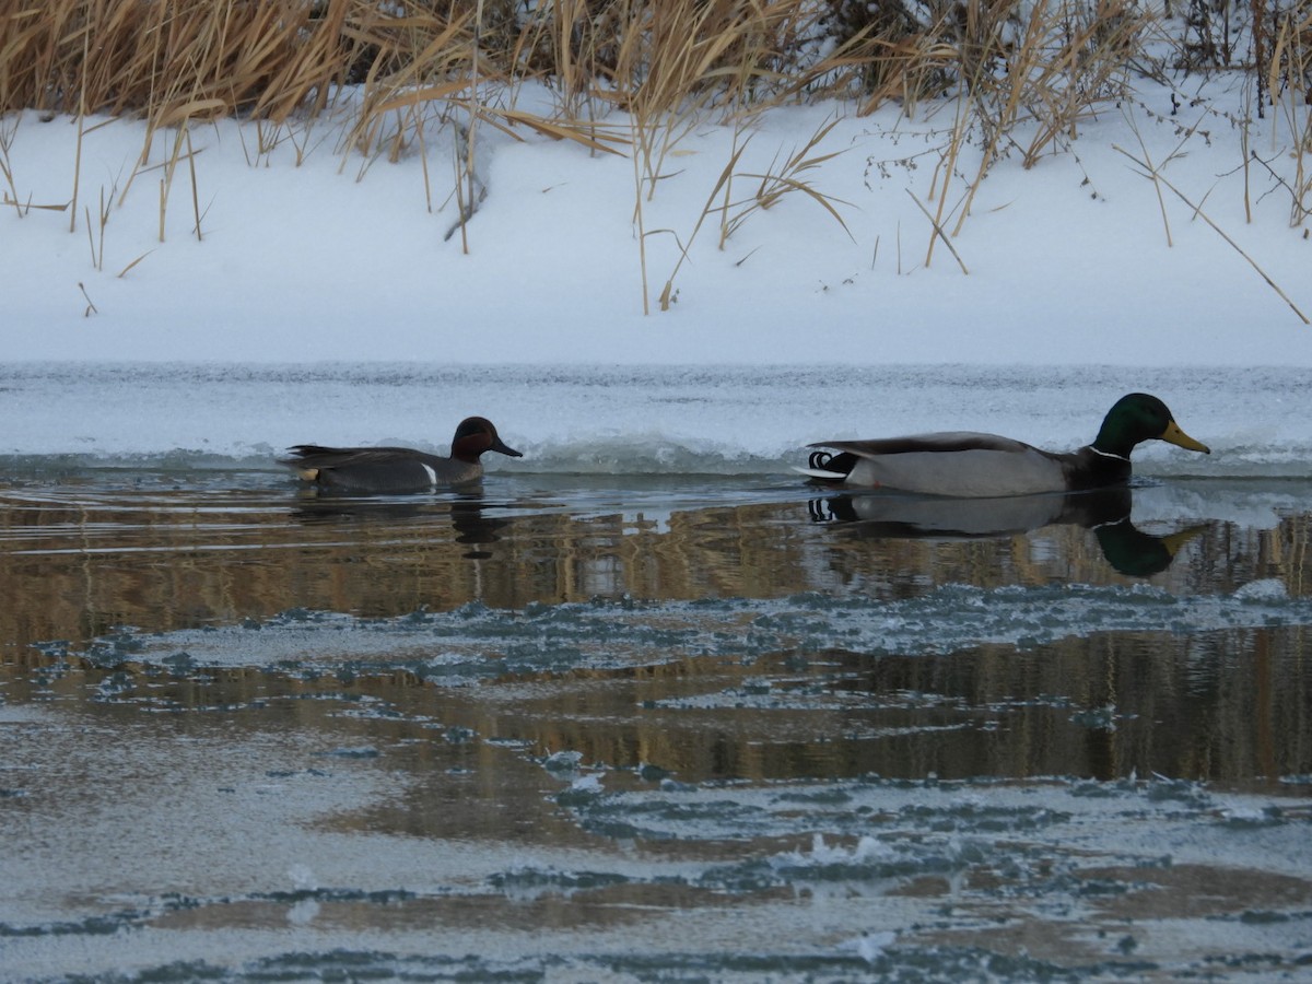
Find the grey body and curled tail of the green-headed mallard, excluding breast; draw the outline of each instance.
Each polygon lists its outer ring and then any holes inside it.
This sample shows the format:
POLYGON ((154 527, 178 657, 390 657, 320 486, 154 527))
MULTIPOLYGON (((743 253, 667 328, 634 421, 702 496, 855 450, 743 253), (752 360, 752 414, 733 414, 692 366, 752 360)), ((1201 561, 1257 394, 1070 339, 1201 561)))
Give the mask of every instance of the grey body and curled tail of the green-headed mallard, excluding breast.
POLYGON ((824 441, 808 472, 823 482, 955 497, 1023 496, 1069 488, 1063 455, 997 434, 946 432, 878 441, 824 441))

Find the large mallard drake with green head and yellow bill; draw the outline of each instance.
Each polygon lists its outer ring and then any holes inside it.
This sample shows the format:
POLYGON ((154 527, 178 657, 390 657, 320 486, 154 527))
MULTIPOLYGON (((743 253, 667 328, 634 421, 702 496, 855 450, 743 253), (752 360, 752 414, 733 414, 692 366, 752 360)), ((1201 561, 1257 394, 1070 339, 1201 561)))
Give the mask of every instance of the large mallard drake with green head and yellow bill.
POLYGON ((798 471, 824 484, 972 499, 1084 492, 1130 482, 1130 453, 1148 440, 1211 454, 1179 429, 1165 403, 1132 392, 1107 411, 1093 443, 1071 454, 1042 451, 994 434, 949 432, 820 441, 810 447, 832 451, 813 451, 808 467, 798 471))

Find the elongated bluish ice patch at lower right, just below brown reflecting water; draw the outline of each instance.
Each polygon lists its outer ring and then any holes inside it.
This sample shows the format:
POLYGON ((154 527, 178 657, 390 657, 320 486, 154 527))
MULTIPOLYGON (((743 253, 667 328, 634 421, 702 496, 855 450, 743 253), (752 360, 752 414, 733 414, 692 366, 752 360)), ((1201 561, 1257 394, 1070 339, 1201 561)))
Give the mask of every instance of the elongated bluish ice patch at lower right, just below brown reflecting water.
MULTIPOLYGON (((565 806, 586 829, 619 838, 778 844, 802 837, 799 846, 757 861, 762 865, 758 874, 803 880, 816 872, 833 875, 836 869, 846 869, 849 876, 876 869, 907 869, 901 874, 908 874, 908 865, 964 869, 994 854, 1012 854, 1014 840, 1093 851, 1134 866, 1214 863, 1227 857, 1235 866, 1282 870, 1281 851, 1300 842, 1312 808, 1305 799, 1270 800, 1177 779, 1047 777, 1012 783, 874 775, 625 790, 565 806), (1164 828, 1181 836, 1164 841, 1164 828), (1244 836, 1254 829, 1262 836, 1244 836), (1166 842, 1170 854, 1162 855, 1166 842)), ((1025 853, 1042 863, 1043 851, 1025 853)), ((714 878, 716 871, 724 874, 707 867, 701 876, 714 878)), ((1288 872, 1312 876, 1312 859, 1300 853, 1288 872)))

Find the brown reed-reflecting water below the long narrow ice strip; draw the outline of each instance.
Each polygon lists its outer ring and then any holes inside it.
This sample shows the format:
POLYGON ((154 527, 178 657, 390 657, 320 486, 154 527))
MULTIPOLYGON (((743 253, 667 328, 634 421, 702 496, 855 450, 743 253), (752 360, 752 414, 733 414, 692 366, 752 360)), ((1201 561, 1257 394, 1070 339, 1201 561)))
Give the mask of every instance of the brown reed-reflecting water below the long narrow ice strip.
MULTIPOLYGON (((260 632, 251 636, 256 661, 260 632)), ((443 773, 432 761, 455 754, 488 787, 500 770, 527 765, 510 743, 530 757, 571 750, 586 768, 617 770, 606 777, 607 791, 638 782, 618 770, 644 765, 690 783, 875 775, 1124 781, 1134 774, 1250 782, 1300 774, 1312 754, 1305 651, 1295 627, 1120 632, 1019 653, 997 644, 935 655, 834 647, 752 660, 670 653, 631 666, 518 670, 470 687, 434 686, 413 669, 413 653, 396 669, 352 665, 337 676, 331 661, 316 663, 312 653, 312 673, 283 674, 268 665, 161 673, 130 653, 112 666, 28 649, 14 659, 0 651, 0 681, 16 705, 54 697, 64 706, 85 702, 101 716, 156 719, 167 707, 171 720, 203 710, 189 724, 222 722, 228 740, 245 728, 282 729, 294 722, 304 733, 357 736, 333 737, 325 748, 405 747, 391 765, 419 775, 443 773), (121 687, 125 680, 143 685, 118 702, 97 686, 117 681, 121 687), (362 697, 371 698, 377 714, 342 714, 340 702, 358 707, 362 697), (230 714, 215 715, 215 708, 230 714), (1111 727, 1076 723, 1089 711, 1106 711, 1111 727), (468 737, 442 741, 443 732, 468 737)), ((502 796, 527 787, 530 799, 542 802, 560 790, 560 778, 529 768, 502 796)), ((464 823, 459 816, 476 811, 462 802, 453 815, 442 783, 413 782, 405 790, 403 804, 387 808, 398 812, 396 821, 416 824, 415 833, 441 817, 440 833, 450 837, 453 824, 464 823)), ((479 815, 479 836, 500 829, 506 812, 479 815)), ((522 834, 522 813, 513 816, 506 836, 522 834)), ((378 817, 361 827, 377 832, 378 817)))

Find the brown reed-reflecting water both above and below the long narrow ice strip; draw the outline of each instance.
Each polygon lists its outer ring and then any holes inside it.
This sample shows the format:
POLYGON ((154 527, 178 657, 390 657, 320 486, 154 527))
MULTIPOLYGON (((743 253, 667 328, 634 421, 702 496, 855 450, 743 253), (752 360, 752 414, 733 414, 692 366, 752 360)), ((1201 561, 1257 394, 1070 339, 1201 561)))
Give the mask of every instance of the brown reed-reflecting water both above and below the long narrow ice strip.
MULTIPOLYGON (((0 509, 0 592, 8 598, 0 606, 0 681, 9 697, 29 699, 24 689, 37 674, 22 668, 55 664, 59 672, 39 676, 41 699, 56 691, 62 699, 98 701, 98 712, 108 712, 104 695, 81 686, 79 674, 104 678, 113 669, 62 661, 52 655, 59 647, 42 653, 33 642, 64 639, 81 649, 119 626, 155 632, 234 625, 297 607, 394 617, 470 601, 523 610, 597 596, 825 592, 865 596, 871 618, 879 618, 883 602, 924 596, 933 585, 1131 583, 1110 575, 1090 533, 1073 526, 998 539, 862 538, 816 527, 785 504, 682 510, 663 527, 618 514, 526 514, 485 530, 478 512, 446 513, 426 500, 395 517, 365 506, 353 514, 348 504, 340 516, 325 509, 293 522, 282 500, 261 513, 247 499, 231 500, 227 512, 203 497, 203 513, 185 499, 156 508, 135 496, 121 508, 110 497, 73 496, 63 505, 20 499, 0 509), (468 556, 463 541, 471 537, 489 558, 468 556)), ((1199 584, 1229 594, 1278 579, 1291 598, 1305 598, 1309 534, 1305 514, 1274 529, 1215 523, 1158 583, 1177 594, 1199 584)), ((660 611, 653 610, 655 625, 660 611)), ((722 619, 718 630, 747 634, 750 625, 722 619)), ((257 663, 260 631, 249 635, 257 663)), ((1022 653, 1000 644, 878 655, 846 646, 838 635, 832 648, 752 660, 673 651, 661 653, 664 661, 552 666, 479 687, 425 685, 411 672, 411 653, 392 673, 361 674, 353 666, 349 691, 374 694, 399 711, 369 719, 370 728, 407 720, 468 728, 479 737, 472 753, 488 756, 480 768, 496 768, 506 754, 483 739, 502 737, 538 753, 579 750, 585 762, 649 762, 691 782, 869 773, 1250 778, 1305 771, 1312 753, 1308 640, 1296 626, 1094 632, 1022 653), (778 706, 732 706, 735 690, 762 682, 778 706), (830 693, 840 699, 828 701, 830 693), (703 708, 702 697, 722 702, 703 708), (1114 729, 1068 727, 1075 711, 1106 706, 1119 715, 1114 729), (985 727, 989 722, 997 727, 985 727)), ((489 659, 496 648, 489 640, 489 659)), ((306 659, 321 676, 283 678, 262 665, 182 674, 129 663, 119 670, 148 676, 151 699, 177 708, 255 707, 269 694, 346 689, 329 661, 315 664, 312 646, 306 659)), ((318 702, 293 701, 277 714, 312 716, 312 706, 318 702)), ((122 707, 142 712, 135 699, 122 707)), ((358 719, 333 720, 348 727, 358 719)), ((231 726, 241 727, 235 719, 231 726)))

